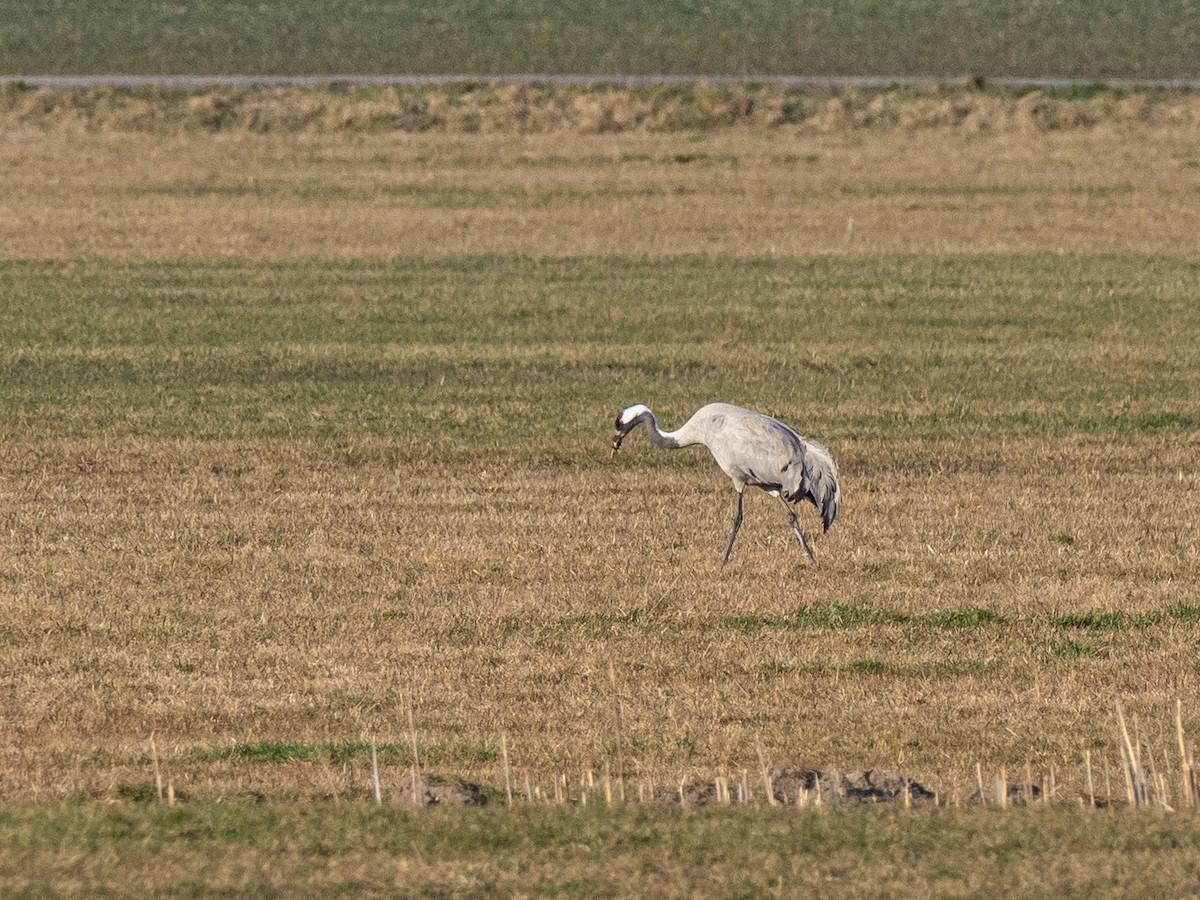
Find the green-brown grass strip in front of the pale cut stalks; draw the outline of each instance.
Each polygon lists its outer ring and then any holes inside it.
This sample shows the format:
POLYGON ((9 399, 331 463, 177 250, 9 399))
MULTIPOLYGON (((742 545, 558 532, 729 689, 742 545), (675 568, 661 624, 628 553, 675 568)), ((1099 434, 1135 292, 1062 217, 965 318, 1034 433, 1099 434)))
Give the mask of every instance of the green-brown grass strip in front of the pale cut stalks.
POLYGON ((1181 896, 1200 820, 1070 809, 8 806, 6 896, 1181 896), (1145 860, 1152 859, 1152 865, 1145 860))

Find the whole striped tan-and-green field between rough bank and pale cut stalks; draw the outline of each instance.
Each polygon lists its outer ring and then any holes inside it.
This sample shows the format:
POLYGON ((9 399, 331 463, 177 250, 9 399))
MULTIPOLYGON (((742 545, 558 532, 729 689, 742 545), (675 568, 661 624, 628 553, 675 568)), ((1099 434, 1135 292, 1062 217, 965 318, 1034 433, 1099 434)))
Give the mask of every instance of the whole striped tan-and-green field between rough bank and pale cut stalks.
POLYGON ((1196 137, 6 128, 0 798, 144 798, 151 736, 185 805, 361 800, 372 739, 503 791, 504 734, 542 792, 1074 803, 1117 704, 1176 791, 1196 137), (719 566, 702 449, 610 458, 712 400, 836 455, 815 565, 757 494, 719 566))

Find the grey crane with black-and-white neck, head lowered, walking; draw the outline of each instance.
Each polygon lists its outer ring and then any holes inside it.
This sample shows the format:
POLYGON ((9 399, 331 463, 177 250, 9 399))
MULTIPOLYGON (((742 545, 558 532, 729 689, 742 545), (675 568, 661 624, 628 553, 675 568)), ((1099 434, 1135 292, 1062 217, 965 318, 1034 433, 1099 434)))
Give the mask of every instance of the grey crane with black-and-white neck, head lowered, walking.
POLYGON ((829 530, 838 517, 841 487, 838 485, 838 463, 828 448, 802 438, 778 419, 731 403, 709 403, 697 409, 679 430, 661 432, 650 408, 637 403, 617 414, 617 430, 612 436, 613 456, 620 450, 620 442, 638 425, 644 425, 650 440, 665 450, 703 444, 721 472, 733 480, 738 505, 730 542, 725 545, 725 556, 721 557, 722 566, 733 552, 733 541, 742 527, 742 494, 750 485, 779 499, 787 511, 787 523, 796 540, 809 559, 814 559, 791 504, 809 500, 821 514, 822 530, 829 530))

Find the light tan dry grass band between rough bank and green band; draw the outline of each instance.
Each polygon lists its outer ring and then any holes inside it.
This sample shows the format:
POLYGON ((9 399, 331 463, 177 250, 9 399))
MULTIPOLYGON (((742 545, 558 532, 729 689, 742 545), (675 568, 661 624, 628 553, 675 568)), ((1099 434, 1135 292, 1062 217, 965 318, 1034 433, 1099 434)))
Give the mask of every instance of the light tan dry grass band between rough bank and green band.
POLYGON ((1195 253, 1190 127, 0 142, 14 258, 1195 253), (230 164, 235 161, 235 164, 230 164))

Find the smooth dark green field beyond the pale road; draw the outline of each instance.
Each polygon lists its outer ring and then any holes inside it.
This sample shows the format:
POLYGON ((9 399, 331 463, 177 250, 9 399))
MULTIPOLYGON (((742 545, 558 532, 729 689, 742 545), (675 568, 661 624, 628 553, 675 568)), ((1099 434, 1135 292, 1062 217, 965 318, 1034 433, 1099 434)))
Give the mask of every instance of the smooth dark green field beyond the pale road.
POLYGON ((4 0, 0 20, 5 74, 1200 74, 1180 0, 4 0))

